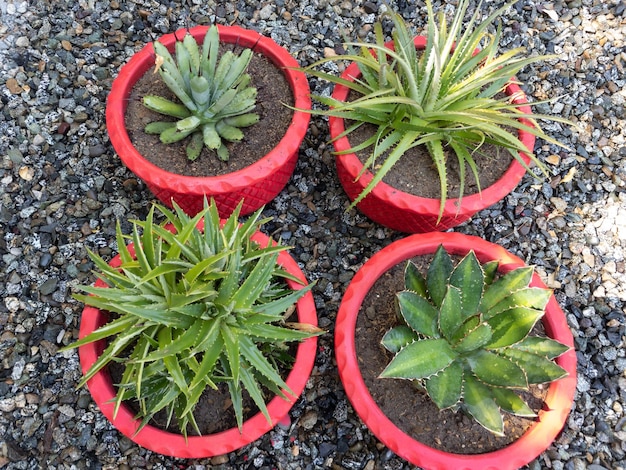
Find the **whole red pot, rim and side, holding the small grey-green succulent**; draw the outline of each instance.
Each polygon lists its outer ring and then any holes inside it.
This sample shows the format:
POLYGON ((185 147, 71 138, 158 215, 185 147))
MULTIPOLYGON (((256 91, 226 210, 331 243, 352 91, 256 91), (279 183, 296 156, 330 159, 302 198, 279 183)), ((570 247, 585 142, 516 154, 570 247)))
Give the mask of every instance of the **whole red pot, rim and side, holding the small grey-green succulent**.
MULTIPOLYGON (((294 70, 297 61, 289 52, 272 39, 256 31, 238 26, 218 25, 220 41, 248 47, 266 56, 280 68, 291 87, 294 107, 310 109, 310 89, 304 73, 294 70)), ((196 26, 189 32, 202 43, 206 26, 196 26)), ((166 34, 159 39, 168 50, 173 51, 176 37, 182 38, 186 30, 166 34)), ((271 201, 285 187, 298 160, 298 150, 306 134, 310 115, 294 111, 291 124, 278 145, 252 165, 226 175, 193 177, 183 176, 159 168, 144 158, 133 146, 124 125, 128 98, 135 83, 154 67, 154 49, 146 45, 133 55, 122 67, 113 82, 107 100, 106 122, 111 143, 124 164, 141 178, 154 195, 171 207, 174 199, 189 215, 195 215, 203 207, 204 197, 213 198, 220 215, 228 217, 243 199, 241 215, 249 214, 271 201)))

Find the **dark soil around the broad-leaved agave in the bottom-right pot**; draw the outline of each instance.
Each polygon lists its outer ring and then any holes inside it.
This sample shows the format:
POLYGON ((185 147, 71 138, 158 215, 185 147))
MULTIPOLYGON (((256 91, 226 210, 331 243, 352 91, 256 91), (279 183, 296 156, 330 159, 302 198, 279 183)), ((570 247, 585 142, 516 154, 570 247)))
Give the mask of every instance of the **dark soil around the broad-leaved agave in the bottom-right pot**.
MULTIPOLYGON (((432 257, 412 261, 425 273, 432 257)), ((504 413, 504 437, 498 437, 462 412, 440 411, 411 381, 380 379, 393 358, 381 344, 383 335, 398 324, 395 294, 404 288, 404 263, 383 274, 365 297, 356 324, 359 368, 372 397, 389 419, 405 433, 435 449, 457 454, 480 454, 507 446, 523 435, 533 419, 504 413)), ((548 386, 530 387, 520 396, 535 411, 542 408, 548 386)))

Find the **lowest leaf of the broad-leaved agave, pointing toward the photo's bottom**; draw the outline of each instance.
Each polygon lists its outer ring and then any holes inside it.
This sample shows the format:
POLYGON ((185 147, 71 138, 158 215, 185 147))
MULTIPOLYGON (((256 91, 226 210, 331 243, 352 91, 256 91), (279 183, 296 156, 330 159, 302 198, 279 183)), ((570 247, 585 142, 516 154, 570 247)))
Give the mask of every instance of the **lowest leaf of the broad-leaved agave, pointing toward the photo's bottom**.
POLYGON ((463 409, 485 429, 497 436, 504 436, 504 421, 491 390, 470 373, 464 375, 464 384, 463 409))

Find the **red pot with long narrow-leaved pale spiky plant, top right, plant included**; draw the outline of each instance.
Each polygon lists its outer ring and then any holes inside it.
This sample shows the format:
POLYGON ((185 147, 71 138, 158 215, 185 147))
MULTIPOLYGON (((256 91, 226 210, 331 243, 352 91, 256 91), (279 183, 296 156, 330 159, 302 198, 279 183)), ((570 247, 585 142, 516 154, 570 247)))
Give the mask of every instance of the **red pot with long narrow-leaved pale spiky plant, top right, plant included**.
POLYGON ((533 155, 535 137, 560 144, 536 119, 566 121, 531 114, 514 75, 552 56, 525 57, 523 48, 497 55, 501 30, 486 32, 513 3, 485 20, 479 6, 465 25, 468 1, 462 0, 448 25, 443 14, 436 20, 427 0, 426 36, 415 38, 402 17, 388 9, 385 15, 394 25, 391 42, 385 43, 378 22, 375 44, 347 43, 350 54, 304 69, 335 84, 330 98, 314 96, 329 109, 312 112, 329 116, 337 171, 350 208, 357 206, 372 220, 399 231, 443 231, 502 199, 531 162, 546 173, 533 155), (339 60, 352 61, 340 77, 317 69, 339 60), (356 131, 363 136, 357 139, 356 131), (481 187, 483 174, 494 165, 490 152, 508 157, 496 182, 481 187), (427 173, 421 180, 409 180, 413 187, 404 190, 384 180, 392 169, 400 179, 427 173), (449 197, 455 174, 458 195, 449 197), (420 190, 429 180, 438 181, 435 195, 423 197, 420 190), (464 195, 470 183, 475 183, 476 193, 464 195))

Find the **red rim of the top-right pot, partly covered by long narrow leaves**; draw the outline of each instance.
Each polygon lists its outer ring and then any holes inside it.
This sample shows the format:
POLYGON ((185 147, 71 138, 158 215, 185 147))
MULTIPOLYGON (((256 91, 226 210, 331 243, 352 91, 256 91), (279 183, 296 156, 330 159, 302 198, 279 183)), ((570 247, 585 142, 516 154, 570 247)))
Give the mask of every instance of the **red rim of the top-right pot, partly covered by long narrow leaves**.
MULTIPOLYGON (((416 36, 414 39, 414 44, 416 49, 423 50, 426 47, 426 37, 416 36)), ((387 43, 386 46, 393 49, 393 42, 387 43)), ((341 75, 342 78, 350 81, 353 81, 359 76, 360 72, 358 64, 354 62, 350 64, 341 75)), ((514 100, 515 103, 528 103, 526 95, 524 94, 522 89, 516 83, 514 83, 514 81, 515 77, 511 79, 511 82, 506 87, 506 94, 509 96, 516 94, 516 98, 514 100)), ((344 85, 336 85, 333 90, 332 97, 337 100, 345 101, 348 97, 349 92, 350 89, 348 87, 344 85)), ((519 109, 526 114, 530 114, 532 112, 530 106, 528 105, 520 106, 519 109)), ((531 123, 527 119, 521 119, 521 122, 527 125, 531 125, 531 123)), ((328 118, 328 123, 332 139, 335 139, 338 135, 345 131, 344 120, 341 118, 331 116, 328 118)), ((529 151, 532 152, 535 145, 535 136, 529 132, 519 130, 518 137, 521 142, 529 149, 529 151)), ((333 141, 333 143, 337 152, 343 152, 351 148, 350 141, 348 140, 347 136, 337 139, 333 141)), ((530 162, 530 158, 528 155, 521 154, 521 156, 526 164, 530 162)), ((358 178, 359 174, 363 170, 363 164, 354 153, 337 155, 336 161, 337 164, 341 165, 344 170, 349 174, 349 176, 354 181, 354 184, 358 185, 359 193, 363 189, 365 189, 365 187, 374 177, 374 175, 369 170, 367 170, 360 178, 358 178)), ((515 186, 517 186, 522 176, 524 176, 525 172, 526 170, 524 169, 524 167, 517 160, 513 160, 509 168, 502 175, 502 177, 491 186, 483 188, 480 193, 463 196, 461 204, 459 204, 458 198, 448 198, 444 206, 443 217, 458 217, 461 221, 468 219, 476 212, 486 207, 489 207, 492 204, 495 204, 496 202, 503 199, 513 190, 513 188, 515 188, 515 186)), ((406 209, 412 212, 419 213, 430 213, 434 214, 435 217, 439 214, 439 199, 425 198, 409 194, 393 188, 392 186, 389 186, 387 183, 382 181, 378 185, 376 185, 371 194, 374 194, 377 199, 383 200, 387 204, 398 207, 399 209, 406 209)))

